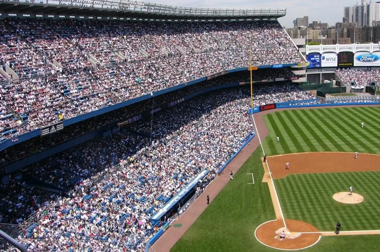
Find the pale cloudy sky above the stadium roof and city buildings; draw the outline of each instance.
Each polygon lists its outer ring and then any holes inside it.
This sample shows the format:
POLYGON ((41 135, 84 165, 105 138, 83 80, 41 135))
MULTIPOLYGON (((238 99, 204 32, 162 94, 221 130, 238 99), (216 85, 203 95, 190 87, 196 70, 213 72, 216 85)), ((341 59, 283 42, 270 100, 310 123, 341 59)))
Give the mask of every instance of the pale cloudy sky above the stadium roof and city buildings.
POLYGON ((287 8, 287 15, 279 21, 285 27, 293 27, 293 20, 303 16, 309 16, 310 23, 321 21, 335 25, 336 22, 342 22, 344 6, 355 5, 361 0, 148 0, 147 2, 209 8, 287 8))

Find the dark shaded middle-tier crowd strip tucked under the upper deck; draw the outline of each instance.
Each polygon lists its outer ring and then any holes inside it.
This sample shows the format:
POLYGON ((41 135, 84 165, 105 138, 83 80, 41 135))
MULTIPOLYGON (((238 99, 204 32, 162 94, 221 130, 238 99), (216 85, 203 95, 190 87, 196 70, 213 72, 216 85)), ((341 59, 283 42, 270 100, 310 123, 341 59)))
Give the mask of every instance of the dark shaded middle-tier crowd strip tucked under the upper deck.
MULTIPOLYGON (((260 69, 260 71, 254 71, 252 75, 254 80, 275 79, 276 77, 287 78, 290 76, 294 76, 294 74, 286 68, 260 69)), ((140 113, 146 109, 152 108, 153 105, 160 105, 167 101, 176 100, 182 98, 185 95, 188 95, 190 93, 207 87, 212 87, 223 83, 243 81, 247 82, 249 80, 250 73, 246 71, 226 74, 215 79, 198 82, 196 84, 189 85, 187 87, 175 91, 171 91, 170 93, 166 93, 142 102, 138 102, 136 104, 132 104, 131 106, 127 106, 122 109, 113 110, 112 112, 103 114, 101 116, 89 120, 82 121, 80 123, 65 126, 63 131, 59 132, 59 135, 54 135, 52 137, 48 135, 43 138, 35 137, 28 141, 24 141, 22 145, 13 145, 6 148, 4 151, 1 151, 0 167, 1 165, 9 165, 9 162, 15 161, 22 157, 26 157, 30 154, 46 150, 47 148, 55 146, 59 143, 63 143, 67 140, 73 139, 74 137, 78 137, 87 132, 92 132, 99 128, 103 128, 107 124, 110 124, 112 122, 121 120, 123 118, 131 117, 132 115, 140 113)))

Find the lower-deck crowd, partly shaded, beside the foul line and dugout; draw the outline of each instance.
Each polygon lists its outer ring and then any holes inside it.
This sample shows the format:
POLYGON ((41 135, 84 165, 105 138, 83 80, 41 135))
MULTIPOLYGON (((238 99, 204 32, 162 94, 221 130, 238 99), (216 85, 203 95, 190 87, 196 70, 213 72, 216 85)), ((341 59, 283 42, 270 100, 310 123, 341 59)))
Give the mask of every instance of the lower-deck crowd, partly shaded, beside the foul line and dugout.
MULTIPOLYGON (((253 93, 255 106, 312 98, 287 83, 253 93)), ((252 131, 249 107, 247 87, 213 91, 26 167, 25 179, 75 187, 75 197, 12 180, 0 187, 0 222, 37 210, 38 222, 18 238, 30 251, 141 251, 159 228, 150 215, 201 170, 211 181, 240 148, 252 131)))

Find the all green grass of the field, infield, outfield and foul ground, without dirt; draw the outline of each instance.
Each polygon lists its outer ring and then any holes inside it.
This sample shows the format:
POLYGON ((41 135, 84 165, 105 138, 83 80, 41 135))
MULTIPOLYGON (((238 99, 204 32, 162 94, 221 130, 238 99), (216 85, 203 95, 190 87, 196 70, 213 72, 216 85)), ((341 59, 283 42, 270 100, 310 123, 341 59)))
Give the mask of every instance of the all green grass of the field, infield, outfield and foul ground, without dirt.
MULTIPOLYGON (((270 113, 264 117, 269 128, 264 150, 267 156, 310 151, 380 154, 379 112, 377 107, 363 107, 270 113), (276 136, 280 143, 275 143, 276 136)), ((254 236, 258 225, 275 219, 268 185, 261 182, 261 156, 258 148, 171 252, 279 251, 261 245, 254 236), (246 173, 254 174, 255 184, 247 184, 252 177, 246 173)), ((275 185, 287 219, 303 220, 323 231, 333 231, 336 221, 344 223, 342 230, 370 230, 380 229, 380 194, 371 192, 379 179, 379 172, 315 173, 289 175, 275 185), (347 181, 353 180, 355 190, 371 200, 359 205, 334 202, 332 194, 346 191, 347 181)), ((377 252, 378 235, 323 237, 303 251, 377 252)))

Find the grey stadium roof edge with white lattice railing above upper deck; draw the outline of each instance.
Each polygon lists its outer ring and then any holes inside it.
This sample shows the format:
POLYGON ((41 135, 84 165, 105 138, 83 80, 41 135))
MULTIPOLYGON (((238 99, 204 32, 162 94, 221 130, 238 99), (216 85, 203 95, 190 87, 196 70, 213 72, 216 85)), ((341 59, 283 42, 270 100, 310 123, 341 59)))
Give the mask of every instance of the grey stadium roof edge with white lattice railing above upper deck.
POLYGON ((124 17, 149 19, 278 18, 286 8, 216 9, 161 5, 131 0, 20 0, 0 1, 2 13, 124 17))

